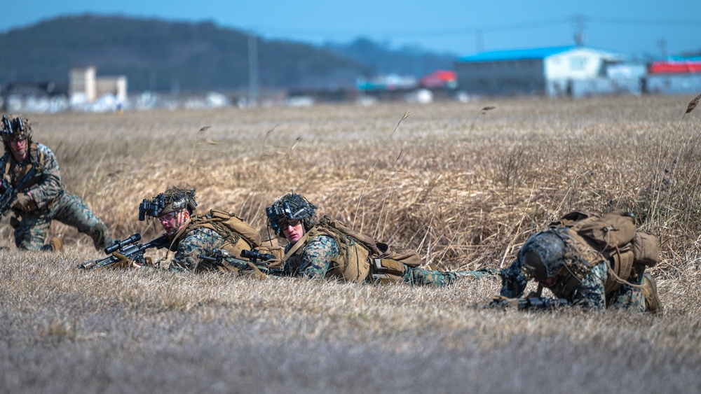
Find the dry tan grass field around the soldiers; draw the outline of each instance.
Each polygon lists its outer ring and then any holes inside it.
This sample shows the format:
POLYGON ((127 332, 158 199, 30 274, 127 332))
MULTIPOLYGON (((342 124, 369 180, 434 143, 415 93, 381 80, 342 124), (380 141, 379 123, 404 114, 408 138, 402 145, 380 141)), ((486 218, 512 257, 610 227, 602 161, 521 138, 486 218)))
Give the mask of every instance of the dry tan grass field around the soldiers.
POLYGON ((0 224, 6 393, 697 392, 701 108, 693 97, 36 115, 69 192, 124 238, 138 204, 197 188, 238 213, 294 190, 441 269, 504 267, 571 210, 627 209, 658 234, 664 314, 478 309, 493 279, 446 288, 221 274, 79 272, 102 257, 54 223, 61 254, 0 224), (482 108, 494 106, 487 111, 482 108), (405 117, 405 113, 409 115, 405 117))

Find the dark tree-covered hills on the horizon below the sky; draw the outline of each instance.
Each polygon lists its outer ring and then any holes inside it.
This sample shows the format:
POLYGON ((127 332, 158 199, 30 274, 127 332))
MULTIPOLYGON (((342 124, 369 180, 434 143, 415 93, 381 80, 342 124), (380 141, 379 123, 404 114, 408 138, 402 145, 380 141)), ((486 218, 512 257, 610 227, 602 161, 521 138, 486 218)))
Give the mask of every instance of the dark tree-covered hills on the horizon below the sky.
MULTIPOLYGON (((421 76, 452 68, 451 56, 388 50, 366 39, 316 47, 257 38, 261 89, 351 86, 376 73, 421 76)), ((67 83, 74 66, 125 75, 131 92, 235 90, 249 81, 249 37, 212 22, 122 16, 57 17, 0 34, 0 84, 67 83)))

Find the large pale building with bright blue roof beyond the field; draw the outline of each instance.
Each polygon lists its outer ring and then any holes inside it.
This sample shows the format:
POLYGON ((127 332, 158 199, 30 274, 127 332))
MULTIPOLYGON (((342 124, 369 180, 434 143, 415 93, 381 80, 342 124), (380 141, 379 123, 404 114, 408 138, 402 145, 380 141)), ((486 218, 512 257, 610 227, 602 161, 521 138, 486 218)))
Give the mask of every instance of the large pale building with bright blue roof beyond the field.
POLYGON ((458 90, 470 95, 578 96, 607 90, 606 69, 622 62, 614 52, 581 45, 498 50, 458 58, 458 90), (586 82, 586 83, 583 83, 586 82), (581 87, 581 88, 579 88, 581 87))

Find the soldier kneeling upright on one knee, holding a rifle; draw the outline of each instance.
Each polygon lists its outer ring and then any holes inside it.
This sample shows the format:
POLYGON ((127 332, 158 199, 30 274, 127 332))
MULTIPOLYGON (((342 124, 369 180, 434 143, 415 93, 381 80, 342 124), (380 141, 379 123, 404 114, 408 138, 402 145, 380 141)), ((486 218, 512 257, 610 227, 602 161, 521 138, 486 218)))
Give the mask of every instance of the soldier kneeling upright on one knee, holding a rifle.
POLYGON ((10 120, 3 115, 2 141, 5 154, 0 167, 4 169, 4 180, 15 189, 20 186, 20 190, 15 190, 17 195, 11 205, 14 216, 10 220, 18 248, 60 251, 62 242, 58 237, 44 244, 51 220, 88 234, 98 251, 112 243, 102 220, 83 200, 65 191, 55 155, 46 146, 32 141, 29 120, 20 117, 10 120))

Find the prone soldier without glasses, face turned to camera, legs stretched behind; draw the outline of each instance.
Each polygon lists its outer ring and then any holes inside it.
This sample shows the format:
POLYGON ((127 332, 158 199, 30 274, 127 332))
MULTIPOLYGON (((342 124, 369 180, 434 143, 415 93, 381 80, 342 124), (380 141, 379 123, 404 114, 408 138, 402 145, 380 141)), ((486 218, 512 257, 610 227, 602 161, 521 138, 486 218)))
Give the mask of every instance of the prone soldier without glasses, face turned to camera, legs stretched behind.
MULTIPOLYGON (((285 237, 283 274, 308 279, 337 279, 349 282, 403 281, 411 285, 444 286, 464 277, 481 278, 489 272, 440 272, 418 267, 418 254, 406 249, 407 260, 393 260, 388 246, 357 233, 349 235, 342 223, 326 216, 315 220, 318 207, 298 194, 280 197, 266 209, 268 225, 285 237)), ((351 230, 352 232, 353 230, 351 230)), ((398 251, 398 249, 396 249, 398 251)))

